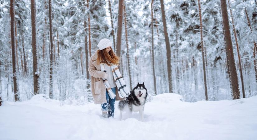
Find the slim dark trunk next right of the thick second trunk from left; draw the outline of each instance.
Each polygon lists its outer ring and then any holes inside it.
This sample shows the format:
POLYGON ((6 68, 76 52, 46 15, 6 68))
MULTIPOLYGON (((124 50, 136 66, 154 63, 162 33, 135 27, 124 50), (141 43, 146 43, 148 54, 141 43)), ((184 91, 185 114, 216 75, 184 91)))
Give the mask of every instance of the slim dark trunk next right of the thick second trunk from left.
POLYGON ((52 6, 51 0, 49 0, 49 30, 50 30, 50 78, 49 78, 49 97, 53 99, 53 57, 54 57, 54 47, 53 47, 53 35, 52 35, 52 6))

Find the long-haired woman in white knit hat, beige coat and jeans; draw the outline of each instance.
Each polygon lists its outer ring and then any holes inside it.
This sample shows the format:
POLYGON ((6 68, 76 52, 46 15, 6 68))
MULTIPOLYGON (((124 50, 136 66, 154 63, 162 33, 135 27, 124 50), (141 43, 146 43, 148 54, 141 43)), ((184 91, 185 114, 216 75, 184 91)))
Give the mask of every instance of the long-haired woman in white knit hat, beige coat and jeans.
POLYGON ((125 100, 126 98, 119 97, 117 85, 112 74, 112 66, 115 65, 117 67, 119 65, 119 57, 112 51, 112 42, 108 39, 102 39, 97 46, 99 49, 89 59, 88 71, 91 75, 91 90, 94 103, 102 106, 102 117, 109 118, 114 116, 114 101, 125 100), (105 69, 104 71, 101 70, 103 68, 105 69), (103 79, 108 81, 109 94, 113 92, 116 95, 114 99, 109 96, 106 82, 103 82, 103 79))

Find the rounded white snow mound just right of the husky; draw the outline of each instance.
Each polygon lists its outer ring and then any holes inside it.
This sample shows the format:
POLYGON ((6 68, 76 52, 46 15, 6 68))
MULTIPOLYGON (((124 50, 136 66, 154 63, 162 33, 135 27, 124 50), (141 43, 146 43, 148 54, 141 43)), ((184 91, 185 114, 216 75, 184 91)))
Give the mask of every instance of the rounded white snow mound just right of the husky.
POLYGON ((171 102, 182 102, 183 96, 175 94, 175 93, 163 93, 153 96, 153 100, 151 102, 162 102, 162 103, 171 103, 171 102))

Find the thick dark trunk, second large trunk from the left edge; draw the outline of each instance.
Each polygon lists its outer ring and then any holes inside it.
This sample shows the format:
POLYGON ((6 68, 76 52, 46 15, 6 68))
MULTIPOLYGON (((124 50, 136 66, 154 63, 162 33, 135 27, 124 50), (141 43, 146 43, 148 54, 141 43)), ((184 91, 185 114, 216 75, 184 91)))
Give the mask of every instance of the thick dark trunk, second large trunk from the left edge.
POLYGON ((37 68, 37 51, 36 51, 36 2, 31 0, 31 29, 32 29, 32 54, 33 54, 33 81, 34 94, 39 94, 39 72, 37 68))

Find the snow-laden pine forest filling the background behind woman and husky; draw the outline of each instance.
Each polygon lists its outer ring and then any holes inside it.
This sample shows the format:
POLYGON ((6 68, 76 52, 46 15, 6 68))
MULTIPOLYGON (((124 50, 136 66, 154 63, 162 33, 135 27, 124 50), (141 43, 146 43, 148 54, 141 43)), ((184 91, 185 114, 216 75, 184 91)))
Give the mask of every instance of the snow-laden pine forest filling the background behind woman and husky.
POLYGON ((150 95, 189 102, 255 96, 257 1, 221 2, 1 1, 2 100, 92 100, 88 59, 102 38, 130 89, 145 82, 150 95))

